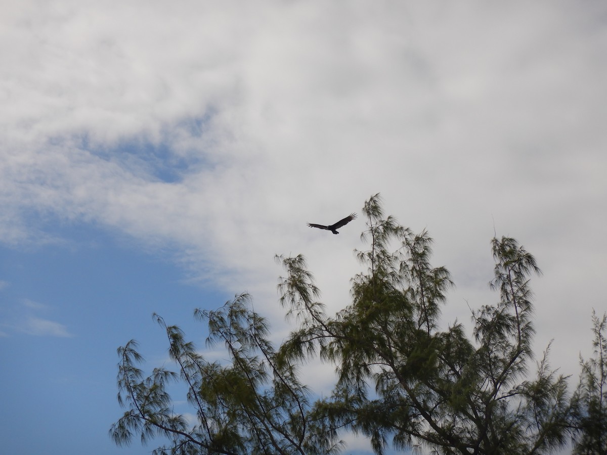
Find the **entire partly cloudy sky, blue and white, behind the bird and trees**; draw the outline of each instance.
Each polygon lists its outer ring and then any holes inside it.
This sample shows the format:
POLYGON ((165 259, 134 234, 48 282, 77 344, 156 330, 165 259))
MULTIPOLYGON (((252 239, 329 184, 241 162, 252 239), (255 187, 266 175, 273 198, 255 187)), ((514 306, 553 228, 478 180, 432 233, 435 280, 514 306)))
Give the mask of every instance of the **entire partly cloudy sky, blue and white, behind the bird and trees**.
MULTIPOLYGON (((384 211, 435 240, 471 327, 493 235, 543 271, 535 351, 577 383, 607 311, 607 4, 0 2, 0 439, 7 453, 143 454, 107 431, 116 349, 203 348, 195 308, 253 295, 280 342, 275 254, 348 305, 384 211)), ((329 390, 333 366, 305 380, 329 390)), ((175 400, 179 400, 175 397, 175 400)), ((346 453, 368 453, 348 437, 346 453)))

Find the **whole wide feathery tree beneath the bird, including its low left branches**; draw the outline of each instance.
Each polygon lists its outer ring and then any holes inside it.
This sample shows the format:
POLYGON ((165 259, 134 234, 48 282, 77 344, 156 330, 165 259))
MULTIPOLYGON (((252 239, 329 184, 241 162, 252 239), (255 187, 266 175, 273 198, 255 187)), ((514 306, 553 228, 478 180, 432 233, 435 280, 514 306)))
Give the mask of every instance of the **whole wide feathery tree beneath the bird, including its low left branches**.
POLYGON ((384 217, 379 195, 364 206, 368 230, 357 251, 367 271, 353 279, 353 301, 329 317, 318 301, 305 258, 277 257, 285 269, 280 302, 297 328, 274 350, 265 320, 242 295, 219 311, 195 312, 208 322, 209 343, 222 342, 230 362, 206 362, 183 333, 166 326, 169 352, 197 409, 196 425, 172 414, 165 384, 177 374, 155 369, 142 380, 134 342, 118 349, 118 399, 129 409, 112 426, 117 443, 162 434, 157 453, 331 453, 348 428, 381 454, 425 446, 441 454, 541 454, 561 447, 571 431, 566 378, 548 365, 534 379, 529 277, 540 274, 517 241, 493 238, 500 298, 473 312, 473 339, 458 322, 441 329, 441 305, 453 286, 432 267, 432 239, 384 217), (310 356, 337 366, 330 397, 311 402, 297 379, 310 356))

